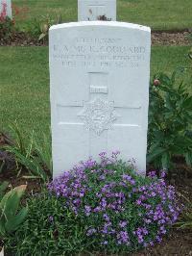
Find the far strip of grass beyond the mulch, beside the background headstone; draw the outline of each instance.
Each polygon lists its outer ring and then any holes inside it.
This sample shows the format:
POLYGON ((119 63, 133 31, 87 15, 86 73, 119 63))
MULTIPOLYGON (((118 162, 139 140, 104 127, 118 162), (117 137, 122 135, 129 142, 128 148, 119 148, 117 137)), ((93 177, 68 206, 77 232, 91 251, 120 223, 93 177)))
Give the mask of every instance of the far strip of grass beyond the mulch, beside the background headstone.
MULTIPOLYGON (((65 22, 77 21, 78 0, 12 0, 13 6, 27 7, 20 27, 32 26, 36 17, 61 13, 65 22)), ((117 0, 117 20, 143 24, 156 30, 192 28, 191 0, 117 0)))

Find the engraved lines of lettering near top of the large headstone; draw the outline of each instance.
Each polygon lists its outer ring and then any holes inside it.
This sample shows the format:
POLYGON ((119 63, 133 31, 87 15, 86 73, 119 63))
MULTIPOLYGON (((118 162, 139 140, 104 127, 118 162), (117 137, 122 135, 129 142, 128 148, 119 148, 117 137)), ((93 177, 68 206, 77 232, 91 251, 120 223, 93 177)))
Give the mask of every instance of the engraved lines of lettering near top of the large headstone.
POLYGON ((129 45, 122 38, 73 38, 55 45, 53 58, 64 67, 131 67, 145 62, 145 45, 129 45))

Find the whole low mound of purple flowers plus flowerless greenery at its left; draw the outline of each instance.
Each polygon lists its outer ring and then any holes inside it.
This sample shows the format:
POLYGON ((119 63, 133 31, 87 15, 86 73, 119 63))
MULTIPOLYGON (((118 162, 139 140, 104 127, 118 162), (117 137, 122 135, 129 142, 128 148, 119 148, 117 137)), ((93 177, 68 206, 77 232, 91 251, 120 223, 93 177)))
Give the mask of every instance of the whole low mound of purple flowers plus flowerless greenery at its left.
POLYGON ((10 239, 15 254, 27 255, 29 247, 33 255, 131 252, 160 243, 180 214, 175 189, 164 172, 140 176, 118 154, 74 166, 31 199, 27 220, 10 239))

